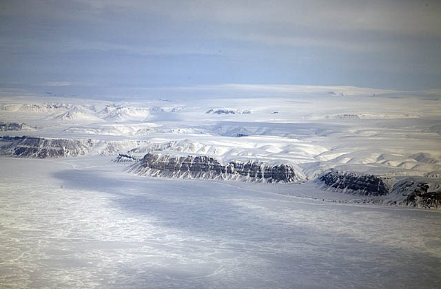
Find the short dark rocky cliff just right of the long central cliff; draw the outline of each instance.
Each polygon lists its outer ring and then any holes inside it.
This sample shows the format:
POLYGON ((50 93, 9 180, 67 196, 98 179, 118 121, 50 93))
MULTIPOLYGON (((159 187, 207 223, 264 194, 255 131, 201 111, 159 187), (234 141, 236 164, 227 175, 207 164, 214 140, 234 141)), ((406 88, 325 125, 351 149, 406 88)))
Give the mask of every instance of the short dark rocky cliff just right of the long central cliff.
POLYGON ((389 194, 393 183, 396 182, 394 178, 390 177, 336 170, 320 175, 318 180, 345 193, 374 196, 389 194))

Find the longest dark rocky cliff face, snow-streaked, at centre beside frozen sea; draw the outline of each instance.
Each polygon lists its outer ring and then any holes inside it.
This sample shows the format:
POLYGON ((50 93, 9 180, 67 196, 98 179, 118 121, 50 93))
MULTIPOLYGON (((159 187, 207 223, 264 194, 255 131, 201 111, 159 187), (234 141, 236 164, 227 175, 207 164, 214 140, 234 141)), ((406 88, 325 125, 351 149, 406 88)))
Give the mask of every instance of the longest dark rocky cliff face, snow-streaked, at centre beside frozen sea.
POLYGON ((231 161, 221 164, 208 156, 160 156, 147 153, 134 164, 132 171, 139 175, 165 178, 198 178, 212 180, 242 180, 249 182, 291 183, 303 179, 287 164, 271 166, 265 162, 231 161))

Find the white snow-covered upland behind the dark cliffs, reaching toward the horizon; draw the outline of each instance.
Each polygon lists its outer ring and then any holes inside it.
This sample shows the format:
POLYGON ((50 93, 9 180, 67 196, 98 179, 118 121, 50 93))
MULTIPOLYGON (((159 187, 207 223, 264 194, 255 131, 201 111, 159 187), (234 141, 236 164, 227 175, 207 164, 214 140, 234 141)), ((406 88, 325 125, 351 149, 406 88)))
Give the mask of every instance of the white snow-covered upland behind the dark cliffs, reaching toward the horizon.
MULTIPOLYGON (((220 162, 260 160, 296 164, 309 179, 331 167, 393 177, 439 178, 438 98, 424 99, 413 97, 410 92, 378 89, 352 88, 351 92, 351 87, 304 87, 303 92, 300 87, 260 88, 262 92, 276 93, 275 89, 279 89, 290 94, 167 102, 134 99, 120 103, 3 97, 0 121, 25 122, 40 128, 26 132, 30 136, 146 140, 150 147, 140 147, 139 156, 146 151, 161 151, 168 155, 212 156, 220 162), (312 94, 327 90, 351 97, 329 96, 328 92, 321 96, 312 94), (214 107, 233 107, 234 111, 252 114, 206 114, 214 107), (274 111, 278 114, 272 114, 274 111)), ((246 92, 250 87, 236 89, 246 92)), ((23 135, 19 131, 2 134, 23 135)))

